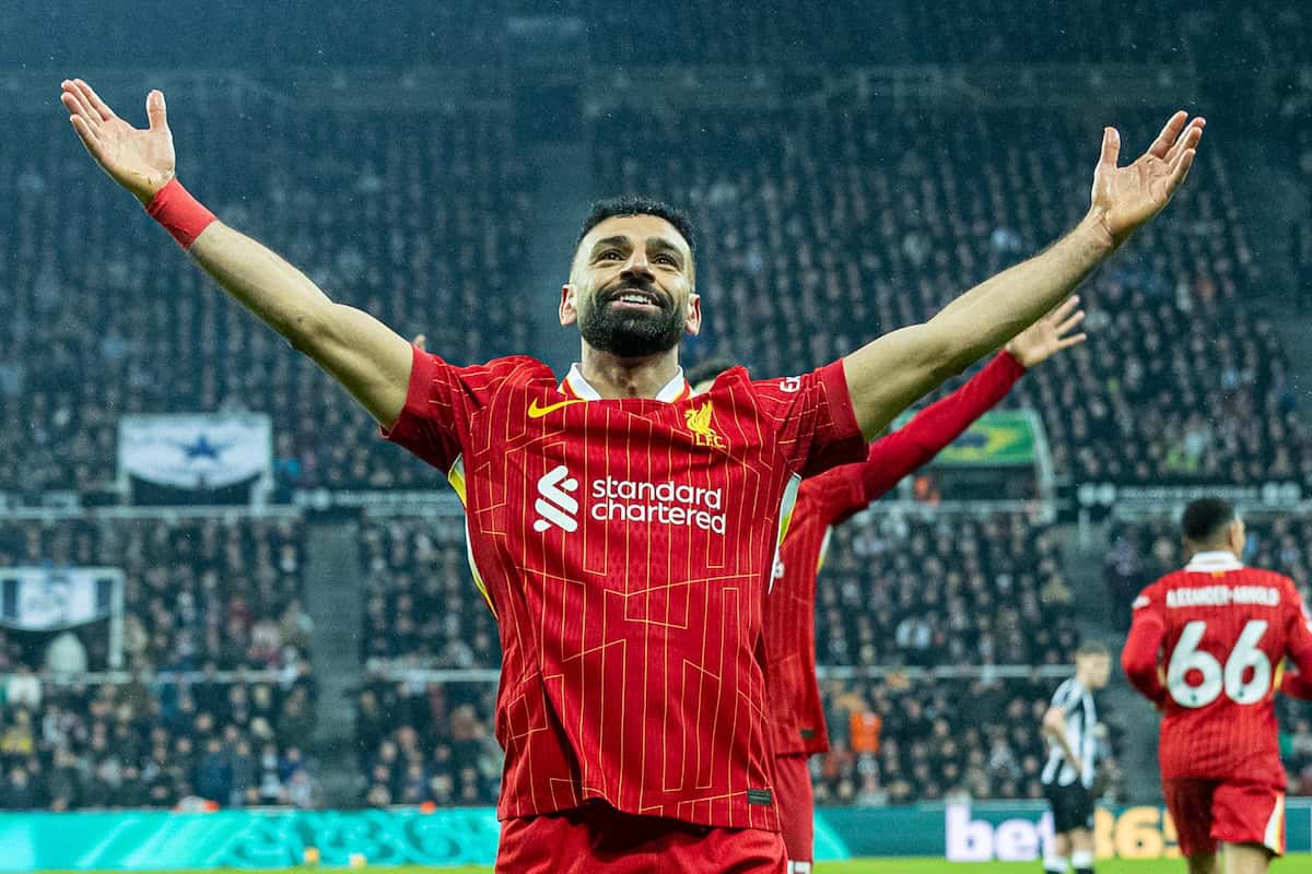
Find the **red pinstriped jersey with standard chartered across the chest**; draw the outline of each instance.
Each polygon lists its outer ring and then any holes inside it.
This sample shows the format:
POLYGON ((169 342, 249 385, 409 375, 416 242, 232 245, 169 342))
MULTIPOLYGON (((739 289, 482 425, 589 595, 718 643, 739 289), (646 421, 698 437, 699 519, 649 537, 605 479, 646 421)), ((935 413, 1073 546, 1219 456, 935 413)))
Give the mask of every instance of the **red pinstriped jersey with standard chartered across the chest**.
POLYGON ((777 831, 761 612, 800 477, 865 453, 842 364, 600 400, 577 368, 416 350, 387 436, 464 502, 502 647, 500 816, 777 831))

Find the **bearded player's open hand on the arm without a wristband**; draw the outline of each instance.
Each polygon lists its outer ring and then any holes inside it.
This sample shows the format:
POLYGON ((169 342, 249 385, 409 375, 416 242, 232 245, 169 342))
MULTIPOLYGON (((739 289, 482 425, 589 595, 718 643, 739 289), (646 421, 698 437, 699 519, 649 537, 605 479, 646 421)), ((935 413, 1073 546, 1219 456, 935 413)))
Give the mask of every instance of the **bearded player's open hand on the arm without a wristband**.
POLYGON ((1176 113, 1161 128, 1148 151, 1130 166, 1117 166, 1120 134, 1109 127, 1102 132, 1102 156, 1093 173, 1092 212, 1102 223, 1111 242, 1119 246, 1141 224, 1170 203, 1194 164, 1198 143, 1207 121, 1176 113))

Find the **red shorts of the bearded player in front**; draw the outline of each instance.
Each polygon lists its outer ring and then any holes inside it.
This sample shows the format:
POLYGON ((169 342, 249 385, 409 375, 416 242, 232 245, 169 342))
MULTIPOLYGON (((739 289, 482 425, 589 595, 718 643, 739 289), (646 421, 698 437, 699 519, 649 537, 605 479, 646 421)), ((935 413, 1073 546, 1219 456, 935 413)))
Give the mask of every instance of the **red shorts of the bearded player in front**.
POLYGON ((712 828, 590 803, 501 823, 504 874, 783 874, 783 840, 760 828, 712 828))

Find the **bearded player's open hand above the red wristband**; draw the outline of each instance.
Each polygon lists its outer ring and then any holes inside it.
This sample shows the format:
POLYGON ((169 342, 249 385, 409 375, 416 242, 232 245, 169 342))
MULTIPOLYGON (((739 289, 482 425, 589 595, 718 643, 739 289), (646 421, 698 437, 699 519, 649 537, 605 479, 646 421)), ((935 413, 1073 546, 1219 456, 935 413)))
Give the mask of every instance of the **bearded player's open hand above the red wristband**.
POLYGON ((139 130, 114 114, 105 101, 80 79, 66 79, 59 96, 77 138, 112 180, 142 203, 173 178, 173 135, 168 130, 164 93, 146 97, 150 127, 139 130))

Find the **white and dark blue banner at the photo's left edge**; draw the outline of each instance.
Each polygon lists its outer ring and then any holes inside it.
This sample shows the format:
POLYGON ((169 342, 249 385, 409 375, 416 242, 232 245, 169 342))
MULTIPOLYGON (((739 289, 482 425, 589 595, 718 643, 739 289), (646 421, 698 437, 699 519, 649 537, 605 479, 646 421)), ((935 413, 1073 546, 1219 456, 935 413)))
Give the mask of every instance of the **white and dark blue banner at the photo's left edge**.
POLYGON ((0 570, 0 625, 54 632, 112 616, 121 599, 117 567, 5 567, 0 570))

